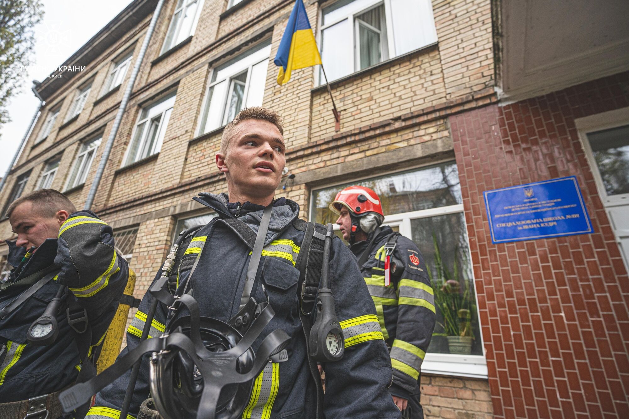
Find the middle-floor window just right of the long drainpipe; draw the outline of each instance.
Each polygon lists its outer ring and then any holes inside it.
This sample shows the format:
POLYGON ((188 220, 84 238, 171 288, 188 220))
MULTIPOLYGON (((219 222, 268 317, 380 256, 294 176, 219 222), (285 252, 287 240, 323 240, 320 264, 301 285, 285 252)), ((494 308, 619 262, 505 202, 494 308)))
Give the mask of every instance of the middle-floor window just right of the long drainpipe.
POLYGON ((126 150, 123 166, 159 153, 166 133, 176 92, 142 109, 135 125, 133 139, 126 150))

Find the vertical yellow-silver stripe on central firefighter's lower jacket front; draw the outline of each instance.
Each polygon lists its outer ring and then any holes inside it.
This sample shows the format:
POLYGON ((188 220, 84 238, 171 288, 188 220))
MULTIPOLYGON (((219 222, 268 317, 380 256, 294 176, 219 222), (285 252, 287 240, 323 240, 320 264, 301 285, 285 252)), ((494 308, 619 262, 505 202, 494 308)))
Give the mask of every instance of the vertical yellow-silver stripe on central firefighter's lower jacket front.
POLYGON ((267 362, 264 370, 255 379, 247 408, 242 413, 243 419, 269 419, 273 402, 279 389, 279 364, 267 362))

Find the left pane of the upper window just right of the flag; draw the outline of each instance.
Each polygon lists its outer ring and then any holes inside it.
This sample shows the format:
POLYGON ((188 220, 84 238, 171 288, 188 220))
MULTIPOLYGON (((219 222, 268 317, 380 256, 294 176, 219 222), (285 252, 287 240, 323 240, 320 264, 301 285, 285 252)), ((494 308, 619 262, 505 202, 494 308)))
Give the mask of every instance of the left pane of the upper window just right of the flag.
MULTIPOLYGON (((323 30, 321 34, 321 60, 325 62, 328 80, 336 80, 343 75, 353 73, 353 46, 349 41, 352 39, 352 25, 349 20, 343 20, 336 25, 323 30)), ((323 74, 320 77, 321 83, 325 83, 323 74)))

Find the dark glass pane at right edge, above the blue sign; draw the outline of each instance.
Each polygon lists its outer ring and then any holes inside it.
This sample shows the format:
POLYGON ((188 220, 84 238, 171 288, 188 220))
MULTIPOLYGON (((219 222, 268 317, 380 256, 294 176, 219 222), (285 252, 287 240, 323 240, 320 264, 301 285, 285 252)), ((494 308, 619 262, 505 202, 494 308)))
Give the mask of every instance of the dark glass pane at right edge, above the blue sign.
POLYGON ((608 195, 629 193, 629 125, 587 134, 608 195))

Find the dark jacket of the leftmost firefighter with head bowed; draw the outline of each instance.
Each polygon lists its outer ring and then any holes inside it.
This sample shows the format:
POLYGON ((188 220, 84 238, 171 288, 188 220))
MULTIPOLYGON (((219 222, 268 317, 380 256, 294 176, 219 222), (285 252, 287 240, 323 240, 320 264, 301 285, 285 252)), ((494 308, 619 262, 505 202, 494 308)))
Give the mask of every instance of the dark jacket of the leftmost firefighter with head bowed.
MULTIPOLYGON (((7 243, 9 263, 19 265, 26 249, 16 247, 14 242, 7 243)), ((43 314, 61 286, 67 286, 72 293, 68 298, 74 298, 87 312, 92 334, 90 352, 94 353, 103 342, 129 277, 126 260, 114 250, 113 230, 87 210, 70 215, 60 226, 57 238, 48 238, 32 255, 26 256, 25 263, 11 271, 8 282, 19 281, 52 264, 58 273, 0 320, 0 344, 6 345, 0 366, 3 402, 54 393, 73 384, 81 370, 75 332, 67 321, 65 303, 57 313, 59 334, 53 344, 35 346, 26 340, 31 323, 43 314)), ((13 286, 0 291, 0 310, 21 291, 24 288, 13 286)))

